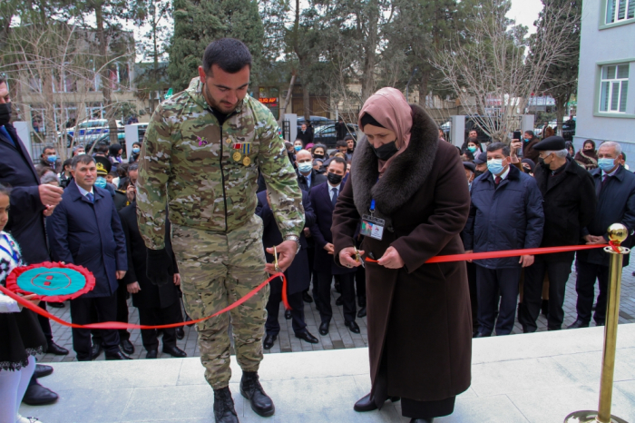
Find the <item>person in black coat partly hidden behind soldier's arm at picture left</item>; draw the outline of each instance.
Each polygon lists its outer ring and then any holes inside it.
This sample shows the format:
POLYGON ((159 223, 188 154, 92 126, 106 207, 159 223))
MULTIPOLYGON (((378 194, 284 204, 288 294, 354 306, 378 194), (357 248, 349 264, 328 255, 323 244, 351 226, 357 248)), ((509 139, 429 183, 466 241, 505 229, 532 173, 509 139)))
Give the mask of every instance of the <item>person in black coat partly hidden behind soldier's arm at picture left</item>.
MULTIPOLYGON (((165 277, 173 283, 161 285, 153 284, 146 276, 146 254, 148 252, 137 223, 137 202, 132 202, 119 212, 123 233, 126 237, 126 251, 128 252, 128 271, 122 282, 127 291, 132 294, 132 305, 139 310, 139 322, 142 325, 168 325, 178 323, 181 319, 181 304, 179 304, 179 289, 181 275, 174 259, 170 241, 170 222, 165 227, 165 251, 171 257, 172 265, 165 277)), ((120 290, 122 287, 120 287, 120 290)), ((187 354, 176 346, 176 329, 163 330, 163 352, 172 357, 183 358, 187 354)), ((146 349, 146 359, 156 359, 159 349, 157 330, 142 329, 143 347, 146 349)))

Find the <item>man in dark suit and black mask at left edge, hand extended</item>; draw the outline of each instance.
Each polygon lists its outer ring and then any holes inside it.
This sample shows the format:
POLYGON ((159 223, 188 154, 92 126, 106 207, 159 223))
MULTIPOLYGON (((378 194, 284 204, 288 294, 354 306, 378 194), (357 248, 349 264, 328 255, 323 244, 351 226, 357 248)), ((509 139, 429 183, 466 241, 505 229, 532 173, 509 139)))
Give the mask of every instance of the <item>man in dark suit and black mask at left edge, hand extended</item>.
MULTIPOLYGON (((0 183, 11 186, 11 213, 5 231, 11 232, 20 245, 22 258, 26 264, 50 261, 46 248, 44 232, 44 215, 50 215, 54 207, 62 201, 64 190, 53 185, 40 184, 37 172, 29 152, 17 136, 11 122, 11 97, 6 82, 0 78, 0 183)), ((40 307, 46 310, 44 301, 40 307)), ((47 352, 55 355, 68 354, 53 341, 51 323, 48 319, 37 316, 48 343, 47 352)), ((24 403, 29 405, 50 404, 57 400, 57 394, 37 383, 36 376, 42 370, 50 374, 52 368, 37 365, 34 377, 24 394, 24 403)))

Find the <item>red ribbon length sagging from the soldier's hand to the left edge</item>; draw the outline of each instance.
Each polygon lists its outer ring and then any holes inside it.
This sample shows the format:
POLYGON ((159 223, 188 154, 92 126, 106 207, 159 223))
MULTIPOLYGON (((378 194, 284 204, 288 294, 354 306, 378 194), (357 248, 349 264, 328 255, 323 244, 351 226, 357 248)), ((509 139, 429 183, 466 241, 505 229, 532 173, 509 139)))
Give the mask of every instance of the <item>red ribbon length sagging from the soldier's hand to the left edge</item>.
POLYGON ((193 323, 199 323, 200 321, 203 320, 208 320, 211 319, 213 317, 216 317, 226 311, 230 311, 231 309, 235 309, 236 307, 238 307, 240 304, 242 304, 243 302, 249 300, 251 297, 253 297, 254 295, 256 295, 256 293, 259 290, 262 290, 265 285, 267 285, 271 280, 274 280, 276 278, 282 278, 282 302, 285 305, 285 309, 287 310, 291 310, 291 307, 288 305, 288 300, 287 300, 287 278, 285 277, 284 273, 276 273, 275 275, 272 275, 271 277, 269 277, 268 280, 265 280, 264 282, 260 283, 259 286, 257 286, 254 290, 249 291, 249 293, 247 295, 245 295, 244 297, 242 297, 240 300, 231 303, 229 306, 225 307, 223 310, 217 311, 214 314, 212 314, 211 316, 208 317, 204 317, 201 319, 197 319, 197 320, 190 320, 190 321, 182 321, 181 323, 171 323, 170 325, 159 325, 159 326, 146 326, 146 325, 134 325, 132 323, 122 323, 121 321, 103 321, 101 323, 90 323, 88 325, 77 325, 74 323, 69 323, 68 321, 62 320, 60 318, 58 318, 57 316, 54 316, 53 314, 49 313, 46 310, 41 309, 40 307, 34 305, 33 303, 31 303, 28 300, 24 300, 24 298, 20 297, 19 295, 16 295, 14 292, 12 292, 11 290, 7 290, 4 286, 0 285, 0 291, 2 291, 6 296, 11 297, 12 299, 16 300, 20 305, 22 305, 23 307, 26 307, 29 310, 34 311, 35 313, 44 316, 45 318, 48 318, 50 320, 53 320, 56 323, 59 323, 63 326, 68 326, 69 328, 77 328, 77 329, 168 329, 168 328, 178 328, 180 326, 185 326, 185 325, 190 325, 193 323))

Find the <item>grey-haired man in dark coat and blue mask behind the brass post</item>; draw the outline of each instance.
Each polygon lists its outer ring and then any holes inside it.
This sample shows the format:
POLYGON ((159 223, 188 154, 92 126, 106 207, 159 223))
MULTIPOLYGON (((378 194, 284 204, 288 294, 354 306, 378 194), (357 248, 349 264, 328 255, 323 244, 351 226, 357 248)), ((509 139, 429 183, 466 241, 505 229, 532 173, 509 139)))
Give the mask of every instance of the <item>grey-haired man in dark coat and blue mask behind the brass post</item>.
MULTIPOLYGON (((584 240, 589 244, 609 241, 607 229, 613 223, 621 223, 629 231, 625 246, 631 245, 630 237, 635 230, 635 174, 624 169, 619 143, 607 141, 598 149, 598 169, 591 171, 595 192, 598 195, 595 217, 582 230, 584 240)), ((629 264, 629 255, 624 256, 624 265, 629 264)), ((578 292, 576 310, 578 318, 569 329, 586 328, 591 322, 595 280, 599 280, 600 294, 593 320, 598 326, 606 320, 606 296, 609 285, 609 254, 597 250, 578 251, 576 261, 578 292)))

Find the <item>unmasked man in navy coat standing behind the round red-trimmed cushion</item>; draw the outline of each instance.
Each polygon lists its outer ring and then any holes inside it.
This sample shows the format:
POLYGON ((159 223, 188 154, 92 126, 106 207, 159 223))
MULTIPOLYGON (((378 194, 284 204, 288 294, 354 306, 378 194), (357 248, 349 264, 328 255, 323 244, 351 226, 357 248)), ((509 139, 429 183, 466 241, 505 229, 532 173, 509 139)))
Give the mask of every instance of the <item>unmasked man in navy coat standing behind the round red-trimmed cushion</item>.
MULTIPOLYGON (((110 192, 93 186, 97 179, 93 157, 75 156, 72 167, 74 181, 46 221, 49 245, 55 261, 83 266, 95 278, 92 291, 71 300, 73 323, 91 323, 93 306, 99 321, 112 321, 117 316, 117 280, 128 269, 122 223, 110 192)), ((102 333, 106 359, 130 359, 119 349, 117 330, 102 333)), ((73 349, 80 361, 93 358, 91 330, 73 328, 73 349)))

